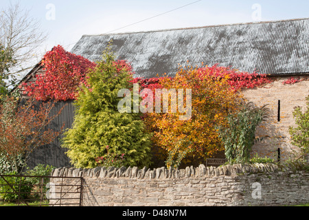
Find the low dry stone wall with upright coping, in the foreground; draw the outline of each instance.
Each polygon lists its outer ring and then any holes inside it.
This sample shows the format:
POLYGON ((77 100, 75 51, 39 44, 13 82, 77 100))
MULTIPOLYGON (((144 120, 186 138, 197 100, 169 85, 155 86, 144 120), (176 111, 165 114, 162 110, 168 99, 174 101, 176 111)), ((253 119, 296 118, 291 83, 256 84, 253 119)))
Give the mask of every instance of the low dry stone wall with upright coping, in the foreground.
POLYGON ((309 173, 280 170, 275 164, 57 168, 52 175, 54 184, 57 177, 83 177, 83 206, 281 206, 309 201, 309 173))

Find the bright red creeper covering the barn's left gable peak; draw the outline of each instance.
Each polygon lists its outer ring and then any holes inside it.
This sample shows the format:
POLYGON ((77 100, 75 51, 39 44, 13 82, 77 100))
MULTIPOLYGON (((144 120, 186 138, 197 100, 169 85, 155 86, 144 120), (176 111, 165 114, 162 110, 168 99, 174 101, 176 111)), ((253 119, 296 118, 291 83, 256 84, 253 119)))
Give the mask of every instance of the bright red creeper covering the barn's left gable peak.
POLYGON ((25 94, 36 100, 69 100, 75 99, 77 89, 86 84, 86 73, 95 67, 95 63, 66 52, 60 45, 47 52, 42 65, 45 74, 36 75, 36 82, 23 83, 25 94))

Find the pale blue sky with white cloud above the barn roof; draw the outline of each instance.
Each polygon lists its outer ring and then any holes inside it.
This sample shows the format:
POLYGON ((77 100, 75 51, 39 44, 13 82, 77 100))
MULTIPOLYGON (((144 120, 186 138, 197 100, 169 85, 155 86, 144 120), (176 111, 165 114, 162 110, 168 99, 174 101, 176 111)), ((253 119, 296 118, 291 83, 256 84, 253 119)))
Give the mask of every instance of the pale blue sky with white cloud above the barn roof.
MULTIPOLYGON (((20 3, 41 22, 42 30, 49 32, 43 50, 51 50, 58 44, 71 50, 83 34, 113 30, 115 33, 137 32, 309 17, 308 0, 194 1, 197 0, 21 0, 20 3), (52 8, 47 7, 50 5, 52 8), (179 8, 183 5, 187 6, 179 8), (253 5, 258 5, 260 11, 253 5), (174 10, 176 8, 179 9, 174 10), (170 10, 173 11, 168 12, 170 10), (162 14, 164 12, 168 13, 162 14), (158 14, 162 15, 155 17, 158 14), (148 19, 150 17, 155 18, 148 19), (136 23, 144 19, 148 20, 136 23), (136 24, 130 25, 132 23, 136 24), (130 26, 122 28, 126 25, 130 26), (122 29, 116 30, 118 28, 122 29)), ((5 8, 10 0, 0 2, 0 8, 5 8)))

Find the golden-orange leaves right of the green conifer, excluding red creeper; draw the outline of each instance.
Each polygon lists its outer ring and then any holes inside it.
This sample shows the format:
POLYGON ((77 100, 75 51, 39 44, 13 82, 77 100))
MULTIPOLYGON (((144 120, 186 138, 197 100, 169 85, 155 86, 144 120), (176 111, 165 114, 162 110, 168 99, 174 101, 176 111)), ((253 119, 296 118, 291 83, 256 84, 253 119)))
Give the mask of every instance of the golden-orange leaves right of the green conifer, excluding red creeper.
MULTIPOLYGON (((229 72, 230 74, 230 72, 229 72)), ((148 113, 148 128, 154 133, 157 146, 171 154, 205 158, 223 149, 214 129, 216 124, 226 124, 227 109, 236 108, 237 94, 229 85, 227 68, 203 67, 179 69, 174 78, 162 78, 159 83, 165 89, 192 89, 192 118, 179 120, 176 113, 148 113), (183 154, 181 154, 183 155, 183 154)), ((186 96, 184 96, 186 97, 186 96)), ((186 103, 186 100, 183 100, 186 103)), ((172 163, 170 163, 172 164, 172 163)))

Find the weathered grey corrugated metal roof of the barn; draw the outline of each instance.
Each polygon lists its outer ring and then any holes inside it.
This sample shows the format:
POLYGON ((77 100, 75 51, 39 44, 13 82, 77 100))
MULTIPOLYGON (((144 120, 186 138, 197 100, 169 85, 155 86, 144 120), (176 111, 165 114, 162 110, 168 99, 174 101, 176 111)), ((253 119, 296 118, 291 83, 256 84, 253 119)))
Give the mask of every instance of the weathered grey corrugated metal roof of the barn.
POLYGON ((309 72, 309 19, 84 35, 71 52, 98 61, 111 39, 116 58, 146 78, 174 76, 187 61, 261 74, 309 72))

